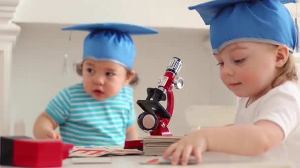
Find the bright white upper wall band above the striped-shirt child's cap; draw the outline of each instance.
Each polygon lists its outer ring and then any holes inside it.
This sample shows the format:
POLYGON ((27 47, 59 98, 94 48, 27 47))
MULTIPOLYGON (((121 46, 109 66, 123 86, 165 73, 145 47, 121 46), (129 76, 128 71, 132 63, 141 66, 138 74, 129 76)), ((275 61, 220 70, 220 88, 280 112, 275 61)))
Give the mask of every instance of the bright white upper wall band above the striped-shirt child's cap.
POLYGON ((126 22, 150 27, 200 28, 188 6, 207 0, 21 0, 13 19, 26 23, 126 22))

